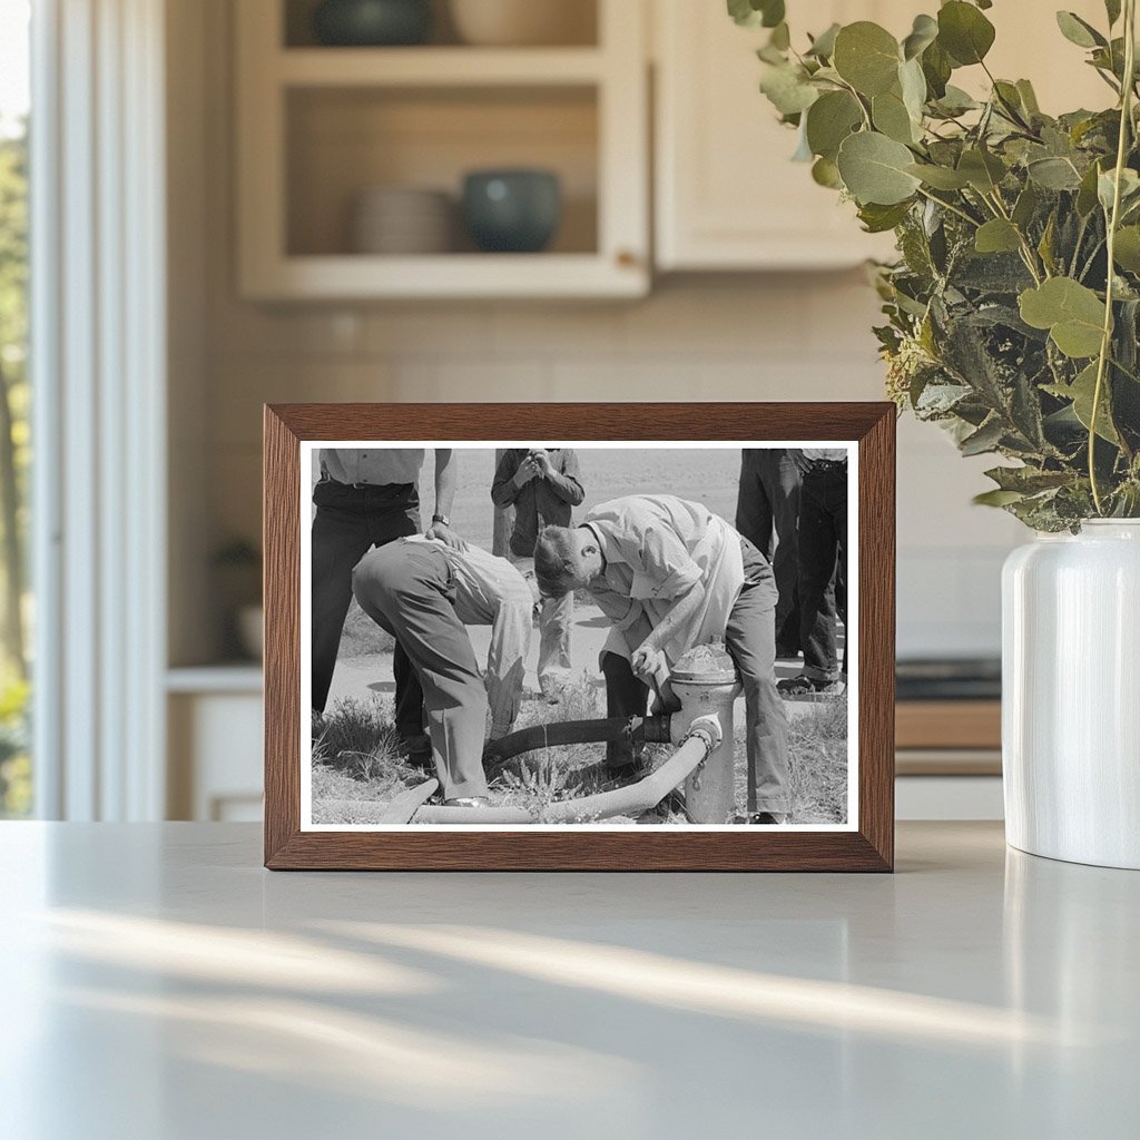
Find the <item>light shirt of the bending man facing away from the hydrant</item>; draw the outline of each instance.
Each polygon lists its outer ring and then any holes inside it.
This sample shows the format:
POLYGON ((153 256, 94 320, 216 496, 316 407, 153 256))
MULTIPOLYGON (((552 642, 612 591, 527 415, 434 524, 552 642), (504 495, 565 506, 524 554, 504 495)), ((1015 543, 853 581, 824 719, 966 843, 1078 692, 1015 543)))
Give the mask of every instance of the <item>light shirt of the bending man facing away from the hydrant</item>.
POLYGON ((535 595, 527 580, 506 559, 479 546, 457 551, 433 538, 413 537, 442 551, 455 573, 455 614, 465 626, 490 626, 487 651, 487 702, 491 736, 506 735, 519 716, 522 682, 530 653, 535 595))

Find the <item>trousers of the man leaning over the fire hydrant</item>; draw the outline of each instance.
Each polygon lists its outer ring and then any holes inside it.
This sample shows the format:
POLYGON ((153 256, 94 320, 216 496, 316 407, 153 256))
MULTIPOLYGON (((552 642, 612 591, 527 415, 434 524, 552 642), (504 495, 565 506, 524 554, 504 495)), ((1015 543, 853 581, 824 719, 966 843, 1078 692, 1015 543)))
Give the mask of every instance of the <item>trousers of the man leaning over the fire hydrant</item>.
MULTIPOLYGON (((744 586, 724 630, 725 649, 736 662, 744 689, 748 717, 748 811, 787 814, 791 809, 788 784, 788 717, 776 689, 776 585, 772 567, 747 540, 744 586)), ((644 716, 649 690, 617 653, 602 657, 605 677, 605 715, 644 716)), ((606 764, 620 771, 632 757, 624 744, 606 746, 606 764)))

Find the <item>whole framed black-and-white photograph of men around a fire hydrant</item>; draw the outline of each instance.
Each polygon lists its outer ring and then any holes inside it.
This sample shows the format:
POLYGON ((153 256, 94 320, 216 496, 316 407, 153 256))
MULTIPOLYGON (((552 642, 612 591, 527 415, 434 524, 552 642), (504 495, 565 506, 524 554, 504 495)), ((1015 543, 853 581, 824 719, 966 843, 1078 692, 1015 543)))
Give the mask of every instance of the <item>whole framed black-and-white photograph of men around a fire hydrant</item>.
POLYGON ((890 404, 264 424, 268 868, 891 869, 890 404))

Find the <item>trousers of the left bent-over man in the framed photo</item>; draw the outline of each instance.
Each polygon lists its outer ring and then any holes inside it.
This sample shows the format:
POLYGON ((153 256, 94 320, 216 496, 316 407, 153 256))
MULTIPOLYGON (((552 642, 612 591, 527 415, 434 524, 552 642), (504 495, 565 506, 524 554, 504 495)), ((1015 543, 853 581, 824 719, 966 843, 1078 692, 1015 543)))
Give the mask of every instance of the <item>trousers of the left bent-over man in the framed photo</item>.
POLYGON ((390 543, 352 575, 360 608, 402 645, 423 689, 435 772, 446 799, 487 795, 487 687, 455 612, 455 573, 432 543, 390 543))

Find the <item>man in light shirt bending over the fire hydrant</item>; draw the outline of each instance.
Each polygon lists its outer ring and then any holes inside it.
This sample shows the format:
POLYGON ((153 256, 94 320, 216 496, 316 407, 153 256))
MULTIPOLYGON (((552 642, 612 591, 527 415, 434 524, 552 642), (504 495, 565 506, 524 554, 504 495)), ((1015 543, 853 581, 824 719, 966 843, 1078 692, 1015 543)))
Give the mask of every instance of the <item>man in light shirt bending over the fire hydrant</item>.
MULTIPOLYGON (((576 528, 547 527, 535 547, 543 594, 586 588, 610 619, 602 651, 606 715, 643 716, 649 682, 694 645, 723 637, 744 689, 756 823, 784 823, 788 722, 775 678, 776 587, 763 554, 723 519, 671 495, 595 507, 576 528)), ((611 746, 611 768, 629 765, 611 746)))

